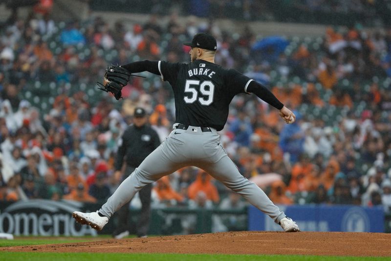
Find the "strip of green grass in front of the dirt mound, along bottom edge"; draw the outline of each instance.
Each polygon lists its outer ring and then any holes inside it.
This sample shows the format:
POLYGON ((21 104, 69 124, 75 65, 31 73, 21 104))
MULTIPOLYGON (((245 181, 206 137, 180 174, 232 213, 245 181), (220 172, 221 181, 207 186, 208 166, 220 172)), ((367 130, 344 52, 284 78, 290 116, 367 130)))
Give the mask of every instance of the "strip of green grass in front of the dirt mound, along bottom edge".
POLYGON ((366 258, 366 257, 322 257, 322 256, 283 256, 283 255, 202 255, 202 254, 121 254, 121 253, 35 253, 35 252, 9 252, 0 253, 0 260, 47 260, 47 261, 61 261, 61 260, 74 260, 74 261, 122 261, 122 260, 137 260, 137 261, 250 261, 250 260, 262 260, 262 261, 377 261, 377 260, 391 260, 390 258, 366 258))

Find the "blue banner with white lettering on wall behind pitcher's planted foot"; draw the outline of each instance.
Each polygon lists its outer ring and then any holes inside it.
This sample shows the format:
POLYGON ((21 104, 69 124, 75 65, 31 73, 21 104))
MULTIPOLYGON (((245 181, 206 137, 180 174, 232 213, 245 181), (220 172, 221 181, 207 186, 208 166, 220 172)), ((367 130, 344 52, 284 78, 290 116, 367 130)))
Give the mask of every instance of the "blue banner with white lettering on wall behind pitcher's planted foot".
MULTIPOLYGON (((279 206, 299 225, 301 231, 384 232, 382 207, 292 205, 279 206)), ((254 206, 248 208, 250 231, 282 231, 267 215, 254 206)))

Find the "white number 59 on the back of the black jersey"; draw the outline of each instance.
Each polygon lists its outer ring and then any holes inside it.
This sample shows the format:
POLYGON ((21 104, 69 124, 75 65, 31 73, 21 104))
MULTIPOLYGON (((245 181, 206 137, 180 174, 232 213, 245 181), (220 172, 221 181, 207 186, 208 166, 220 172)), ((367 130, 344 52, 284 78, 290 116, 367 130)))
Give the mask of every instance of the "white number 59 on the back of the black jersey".
POLYGON ((185 95, 183 97, 186 103, 193 103, 197 100, 198 97, 199 103, 208 106, 213 102, 215 85, 211 81, 203 81, 201 84, 199 84, 198 80, 186 80, 185 93, 190 93, 189 95, 185 95), (194 87, 192 87, 192 85, 199 85, 199 92, 201 95, 206 96, 206 98, 198 97, 198 92, 194 87))

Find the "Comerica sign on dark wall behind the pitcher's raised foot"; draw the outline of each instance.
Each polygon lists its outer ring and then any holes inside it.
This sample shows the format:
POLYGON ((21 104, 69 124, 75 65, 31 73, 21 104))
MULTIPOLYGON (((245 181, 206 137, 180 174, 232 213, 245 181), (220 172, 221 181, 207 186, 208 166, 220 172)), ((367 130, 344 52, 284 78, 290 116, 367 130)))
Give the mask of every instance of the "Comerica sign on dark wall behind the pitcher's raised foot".
POLYGON ((77 224, 71 216, 82 206, 82 203, 73 201, 18 201, 5 209, 0 208, 0 233, 15 236, 96 236, 95 230, 77 224))

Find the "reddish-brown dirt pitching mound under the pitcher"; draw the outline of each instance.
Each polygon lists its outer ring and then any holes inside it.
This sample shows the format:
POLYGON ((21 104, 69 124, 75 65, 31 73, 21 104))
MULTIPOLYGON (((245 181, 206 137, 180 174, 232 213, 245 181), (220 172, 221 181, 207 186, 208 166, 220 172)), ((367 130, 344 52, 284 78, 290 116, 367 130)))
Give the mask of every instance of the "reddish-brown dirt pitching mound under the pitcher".
POLYGON ((2 251, 391 256, 391 235, 340 232, 227 232, 4 247, 2 251))

